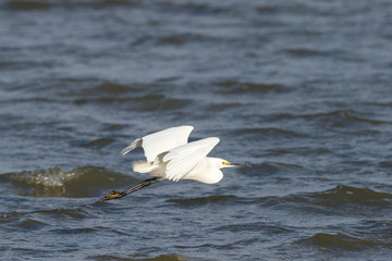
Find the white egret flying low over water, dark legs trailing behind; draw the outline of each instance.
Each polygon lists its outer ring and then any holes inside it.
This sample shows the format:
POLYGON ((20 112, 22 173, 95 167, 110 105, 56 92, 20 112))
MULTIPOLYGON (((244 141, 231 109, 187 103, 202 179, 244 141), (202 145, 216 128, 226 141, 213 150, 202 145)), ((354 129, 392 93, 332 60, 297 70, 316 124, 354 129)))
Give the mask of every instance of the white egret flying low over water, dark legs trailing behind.
POLYGON ((123 149, 122 154, 142 146, 147 158, 146 162, 134 162, 133 171, 148 173, 152 178, 146 179, 125 191, 111 191, 102 200, 122 198, 156 182, 169 179, 192 179, 206 184, 219 183, 223 173, 222 167, 242 166, 230 163, 220 158, 210 158, 207 154, 219 142, 219 138, 210 137, 187 142, 193 126, 171 127, 158 133, 138 138, 123 149))

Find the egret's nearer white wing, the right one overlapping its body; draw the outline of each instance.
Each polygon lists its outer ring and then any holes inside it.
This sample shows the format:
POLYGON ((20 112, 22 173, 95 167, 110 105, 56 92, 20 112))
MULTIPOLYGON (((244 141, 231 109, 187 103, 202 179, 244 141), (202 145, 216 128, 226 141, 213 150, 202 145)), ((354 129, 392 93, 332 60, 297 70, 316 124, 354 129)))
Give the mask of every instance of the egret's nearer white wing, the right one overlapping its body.
POLYGON ((163 162, 169 162, 166 166, 166 177, 177 182, 185 176, 195 165, 203 160, 219 144, 219 138, 211 137, 193 141, 170 150, 164 157, 163 162))

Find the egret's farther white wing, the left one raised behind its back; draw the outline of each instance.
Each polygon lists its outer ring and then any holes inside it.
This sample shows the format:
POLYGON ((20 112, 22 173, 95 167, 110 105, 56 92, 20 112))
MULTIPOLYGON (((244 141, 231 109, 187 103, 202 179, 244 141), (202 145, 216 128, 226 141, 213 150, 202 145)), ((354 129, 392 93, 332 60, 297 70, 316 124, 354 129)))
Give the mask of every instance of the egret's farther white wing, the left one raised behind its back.
POLYGON ((193 126, 179 126, 149 134, 133 141, 122 150, 122 153, 126 154, 136 147, 142 146, 147 161, 152 162, 158 154, 187 144, 187 139, 193 129, 193 126))

